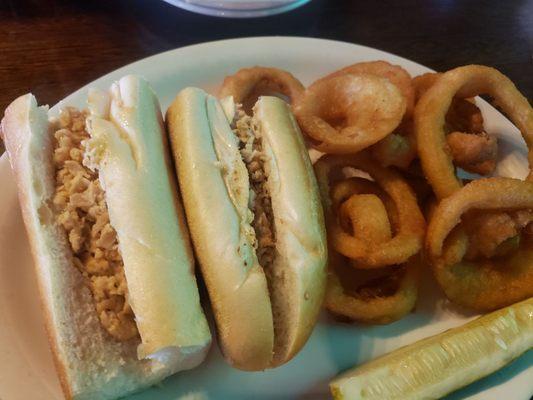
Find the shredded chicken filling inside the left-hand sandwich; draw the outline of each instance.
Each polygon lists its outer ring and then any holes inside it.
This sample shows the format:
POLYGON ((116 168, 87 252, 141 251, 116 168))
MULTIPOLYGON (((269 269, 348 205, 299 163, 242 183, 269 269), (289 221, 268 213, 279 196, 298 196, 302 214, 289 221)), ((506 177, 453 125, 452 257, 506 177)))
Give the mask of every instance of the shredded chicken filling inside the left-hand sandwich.
POLYGON ((63 110, 54 133, 54 207, 74 264, 86 278, 102 326, 116 340, 138 335, 128 302, 124 263, 98 174, 83 164, 86 112, 63 110))

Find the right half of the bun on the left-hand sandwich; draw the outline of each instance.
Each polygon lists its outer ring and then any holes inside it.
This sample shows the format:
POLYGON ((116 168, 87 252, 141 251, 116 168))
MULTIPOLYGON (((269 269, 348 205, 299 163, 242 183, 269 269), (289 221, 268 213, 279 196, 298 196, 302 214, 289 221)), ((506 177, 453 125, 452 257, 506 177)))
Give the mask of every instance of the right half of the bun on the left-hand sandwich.
POLYGON ((187 360, 210 333, 158 101, 145 80, 126 76, 111 88, 109 119, 93 112, 87 124, 142 338, 139 358, 187 360))

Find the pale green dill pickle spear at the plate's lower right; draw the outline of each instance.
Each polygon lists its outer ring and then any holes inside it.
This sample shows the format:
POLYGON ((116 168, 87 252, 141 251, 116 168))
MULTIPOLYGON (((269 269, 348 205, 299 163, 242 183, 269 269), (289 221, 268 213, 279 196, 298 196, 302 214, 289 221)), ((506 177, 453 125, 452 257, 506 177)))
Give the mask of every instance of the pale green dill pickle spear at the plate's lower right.
POLYGON ((351 369, 335 399, 436 399, 500 369, 533 347, 533 298, 351 369))

